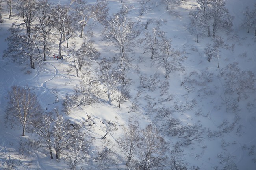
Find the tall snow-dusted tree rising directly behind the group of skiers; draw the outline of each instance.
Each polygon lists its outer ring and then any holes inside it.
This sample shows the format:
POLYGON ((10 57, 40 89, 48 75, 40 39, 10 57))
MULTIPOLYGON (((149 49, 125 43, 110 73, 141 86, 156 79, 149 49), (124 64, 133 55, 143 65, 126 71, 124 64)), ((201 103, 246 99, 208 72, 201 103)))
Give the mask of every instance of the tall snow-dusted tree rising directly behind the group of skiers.
POLYGON ((59 52, 58 56, 61 57, 61 46, 66 41, 68 46, 68 39, 74 33, 72 22, 74 21, 74 15, 70 13, 69 5, 57 4, 54 10, 54 28, 59 34, 59 52))

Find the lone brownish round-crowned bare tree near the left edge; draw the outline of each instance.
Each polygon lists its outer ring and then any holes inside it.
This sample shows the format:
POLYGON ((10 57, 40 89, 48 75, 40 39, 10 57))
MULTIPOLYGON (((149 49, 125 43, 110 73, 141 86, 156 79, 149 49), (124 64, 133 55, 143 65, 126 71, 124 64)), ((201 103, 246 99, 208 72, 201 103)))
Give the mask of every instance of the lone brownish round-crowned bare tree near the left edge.
POLYGON ((30 88, 12 86, 7 99, 9 102, 6 108, 6 119, 13 125, 19 122, 22 125, 22 136, 25 136, 26 127, 43 113, 37 96, 30 88))

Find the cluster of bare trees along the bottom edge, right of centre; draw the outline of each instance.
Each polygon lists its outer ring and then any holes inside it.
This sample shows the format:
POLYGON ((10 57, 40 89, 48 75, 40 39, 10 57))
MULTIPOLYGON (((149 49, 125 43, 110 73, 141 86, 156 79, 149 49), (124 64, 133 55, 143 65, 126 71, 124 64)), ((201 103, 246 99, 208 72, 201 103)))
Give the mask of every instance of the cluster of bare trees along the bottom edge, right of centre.
POLYGON ((186 170, 184 145, 165 141, 158 128, 148 125, 139 130, 129 124, 122 137, 117 139, 118 148, 124 155, 126 166, 137 170, 171 167, 171 170, 186 170))

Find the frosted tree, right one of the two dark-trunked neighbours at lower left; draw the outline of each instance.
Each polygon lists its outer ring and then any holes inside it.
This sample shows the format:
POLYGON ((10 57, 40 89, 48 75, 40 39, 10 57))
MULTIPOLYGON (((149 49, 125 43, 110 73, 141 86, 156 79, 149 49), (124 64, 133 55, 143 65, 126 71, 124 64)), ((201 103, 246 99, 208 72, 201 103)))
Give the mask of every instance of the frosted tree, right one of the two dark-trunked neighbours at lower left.
POLYGON ((56 159, 60 159, 61 153, 69 147, 70 139, 70 121, 64 119, 62 115, 59 114, 58 108, 54 110, 56 117, 53 123, 53 146, 56 151, 56 159))

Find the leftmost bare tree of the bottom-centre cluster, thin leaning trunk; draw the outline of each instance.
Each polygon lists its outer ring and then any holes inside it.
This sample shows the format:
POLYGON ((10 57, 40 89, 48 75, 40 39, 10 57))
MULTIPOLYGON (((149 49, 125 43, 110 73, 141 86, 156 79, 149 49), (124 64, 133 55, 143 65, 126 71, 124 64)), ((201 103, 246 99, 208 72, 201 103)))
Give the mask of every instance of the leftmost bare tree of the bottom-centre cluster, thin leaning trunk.
POLYGON ((132 161, 135 156, 135 150, 140 140, 141 137, 139 135, 138 126, 134 124, 129 124, 128 129, 124 129, 122 137, 117 139, 119 149, 127 159, 126 166, 129 166, 130 161, 132 161))

